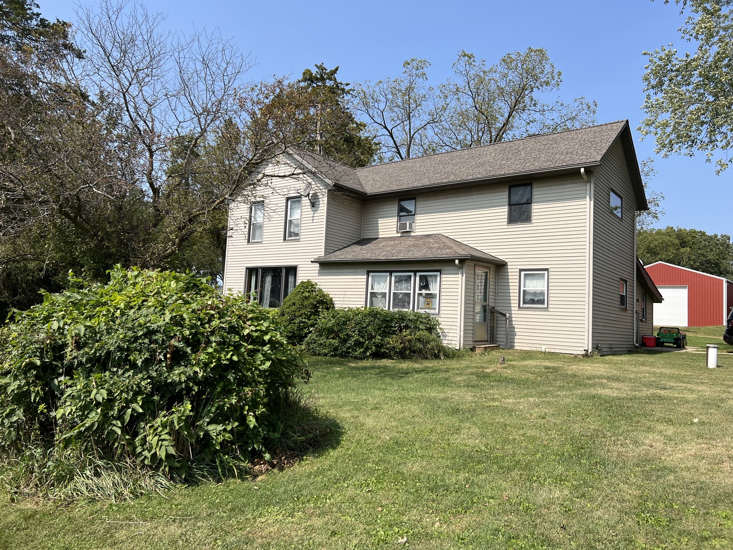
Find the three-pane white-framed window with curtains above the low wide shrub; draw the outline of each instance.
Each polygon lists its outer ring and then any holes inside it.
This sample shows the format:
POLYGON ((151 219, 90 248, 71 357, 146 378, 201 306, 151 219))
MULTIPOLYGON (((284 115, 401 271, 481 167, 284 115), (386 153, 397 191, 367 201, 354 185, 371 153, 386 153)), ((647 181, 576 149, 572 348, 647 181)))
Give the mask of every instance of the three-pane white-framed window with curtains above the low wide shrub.
POLYGON ((367 274, 367 307, 438 313, 441 271, 372 271, 367 274))

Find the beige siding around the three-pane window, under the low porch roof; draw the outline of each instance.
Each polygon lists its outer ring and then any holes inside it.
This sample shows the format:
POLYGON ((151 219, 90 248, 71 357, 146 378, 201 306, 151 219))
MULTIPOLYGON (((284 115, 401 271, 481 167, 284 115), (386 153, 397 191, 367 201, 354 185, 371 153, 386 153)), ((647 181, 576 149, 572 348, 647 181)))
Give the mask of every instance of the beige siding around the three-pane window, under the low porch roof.
POLYGON ((336 307, 364 307, 367 302, 367 271, 441 271, 440 309, 443 342, 457 348, 460 269, 452 262, 377 262, 370 264, 324 264, 318 269, 318 284, 334 298, 336 307))

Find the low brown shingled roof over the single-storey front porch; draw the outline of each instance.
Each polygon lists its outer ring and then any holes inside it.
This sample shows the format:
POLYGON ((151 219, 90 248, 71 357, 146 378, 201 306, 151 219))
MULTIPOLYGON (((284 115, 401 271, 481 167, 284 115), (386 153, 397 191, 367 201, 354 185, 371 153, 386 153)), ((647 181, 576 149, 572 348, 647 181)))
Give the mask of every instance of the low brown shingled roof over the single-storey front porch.
POLYGON ((388 262, 416 260, 479 260, 506 265, 504 260, 446 235, 409 235, 405 237, 368 238, 342 249, 319 256, 314 263, 388 262))

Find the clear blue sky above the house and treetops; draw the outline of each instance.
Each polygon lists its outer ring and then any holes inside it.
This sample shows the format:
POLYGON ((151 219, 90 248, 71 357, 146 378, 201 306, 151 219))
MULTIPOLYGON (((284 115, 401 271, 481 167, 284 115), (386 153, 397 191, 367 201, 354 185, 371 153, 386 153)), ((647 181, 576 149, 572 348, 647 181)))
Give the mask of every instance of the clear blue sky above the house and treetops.
MULTIPOLYGON (((75 21, 75 2, 37 1, 46 18, 75 21)), ((399 75, 405 59, 422 57, 432 62, 430 80, 438 84, 450 76, 462 49, 491 63, 509 51, 546 48, 563 73, 561 97, 596 100, 598 122, 630 120, 639 160, 655 159, 658 175, 649 185, 666 196, 660 227, 732 232, 726 191, 733 168, 716 176, 704 155, 662 158, 652 138, 642 142, 636 131, 644 117, 641 52, 669 43, 686 46, 677 32, 679 10, 662 0, 144 3, 165 14, 172 30, 221 29, 257 62, 252 79, 297 78, 304 68, 324 63, 339 65, 342 81, 375 81, 399 75)))

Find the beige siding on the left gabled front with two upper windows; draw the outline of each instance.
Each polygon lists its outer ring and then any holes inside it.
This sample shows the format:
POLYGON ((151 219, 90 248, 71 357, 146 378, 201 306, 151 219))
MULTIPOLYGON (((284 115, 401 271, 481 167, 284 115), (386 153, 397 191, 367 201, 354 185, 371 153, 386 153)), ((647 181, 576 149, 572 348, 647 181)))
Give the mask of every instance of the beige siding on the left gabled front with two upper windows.
POLYGON ((277 267, 295 265, 298 267, 298 282, 314 279, 318 266, 311 263, 314 257, 323 254, 325 229, 325 187, 323 183, 306 175, 289 177, 292 166, 279 164, 270 166, 254 194, 247 201, 234 202, 229 208, 229 238, 226 240, 226 262, 224 265, 224 289, 243 292, 246 268, 277 267), (298 196, 298 191, 311 180, 319 199, 315 207, 303 198, 301 202, 301 238, 299 241, 284 241, 285 205, 287 197, 298 196), (262 225, 262 242, 248 243, 249 208, 251 202, 265 202, 265 221, 262 225))

